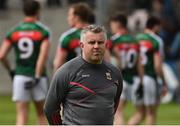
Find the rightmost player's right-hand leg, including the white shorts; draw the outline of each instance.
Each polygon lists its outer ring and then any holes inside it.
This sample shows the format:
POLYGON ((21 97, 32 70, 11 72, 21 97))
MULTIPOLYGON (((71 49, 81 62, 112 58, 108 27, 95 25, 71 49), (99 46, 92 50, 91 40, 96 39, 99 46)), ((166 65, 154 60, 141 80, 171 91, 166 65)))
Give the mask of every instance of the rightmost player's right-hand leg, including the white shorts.
POLYGON ((158 89, 154 78, 145 76, 144 83, 144 104, 146 107, 146 124, 154 125, 156 123, 156 111, 158 104, 158 89))

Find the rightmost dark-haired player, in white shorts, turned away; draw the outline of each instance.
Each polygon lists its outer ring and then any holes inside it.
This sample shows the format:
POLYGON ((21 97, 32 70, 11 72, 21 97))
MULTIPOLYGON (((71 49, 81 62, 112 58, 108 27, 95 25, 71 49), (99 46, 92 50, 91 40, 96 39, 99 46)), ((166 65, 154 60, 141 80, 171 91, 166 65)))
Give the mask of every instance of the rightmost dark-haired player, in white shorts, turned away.
POLYGON ((145 118, 147 125, 154 125, 156 122, 156 112, 159 103, 159 88, 157 76, 161 77, 163 88, 161 95, 167 92, 166 82, 162 70, 162 56, 160 55, 159 42, 152 33, 158 33, 160 30, 160 21, 155 17, 147 20, 144 33, 137 35, 137 39, 141 45, 142 64, 144 66, 144 98, 143 101, 136 101, 137 110, 129 124, 140 124, 145 118))

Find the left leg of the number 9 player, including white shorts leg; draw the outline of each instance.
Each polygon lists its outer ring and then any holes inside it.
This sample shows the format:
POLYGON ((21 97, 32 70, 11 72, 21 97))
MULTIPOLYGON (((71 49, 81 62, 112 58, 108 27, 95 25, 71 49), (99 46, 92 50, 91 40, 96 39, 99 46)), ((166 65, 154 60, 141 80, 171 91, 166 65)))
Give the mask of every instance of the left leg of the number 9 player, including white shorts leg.
POLYGON ((16 124, 25 125, 28 121, 30 91, 25 89, 25 82, 30 78, 16 75, 13 80, 13 101, 16 102, 16 124))

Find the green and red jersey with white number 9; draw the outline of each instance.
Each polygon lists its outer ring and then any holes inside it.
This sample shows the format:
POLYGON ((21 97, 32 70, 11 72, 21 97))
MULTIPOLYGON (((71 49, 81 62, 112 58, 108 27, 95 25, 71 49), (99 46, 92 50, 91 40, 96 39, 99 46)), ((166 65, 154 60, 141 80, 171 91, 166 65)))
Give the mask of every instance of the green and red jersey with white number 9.
POLYGON ((49 30, 43 24, 32 20, 24 20, 7 33, 5 42, 12 44, 15 50, 16 74, 35 75, 40 46, 49 36, 49 30))

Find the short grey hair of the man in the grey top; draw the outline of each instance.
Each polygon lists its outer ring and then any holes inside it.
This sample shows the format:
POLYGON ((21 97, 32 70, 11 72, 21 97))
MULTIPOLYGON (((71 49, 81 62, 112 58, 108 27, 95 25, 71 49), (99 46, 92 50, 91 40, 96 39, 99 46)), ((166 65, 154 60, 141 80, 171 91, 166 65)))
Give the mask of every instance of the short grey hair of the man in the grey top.
POLYGON ((93 32, 93 33, 100 33, 103 32, 104 33, 104 39, 105 41, 107 41, 107 33, 106 30, 103 26, 99 26, 99 25, 88 25, 86 27, 83 28, 83 30, 81 31, 81 37, 80 37, 80 42, 84 42, 85 41, 85 34, 87 32, 93 32))

